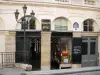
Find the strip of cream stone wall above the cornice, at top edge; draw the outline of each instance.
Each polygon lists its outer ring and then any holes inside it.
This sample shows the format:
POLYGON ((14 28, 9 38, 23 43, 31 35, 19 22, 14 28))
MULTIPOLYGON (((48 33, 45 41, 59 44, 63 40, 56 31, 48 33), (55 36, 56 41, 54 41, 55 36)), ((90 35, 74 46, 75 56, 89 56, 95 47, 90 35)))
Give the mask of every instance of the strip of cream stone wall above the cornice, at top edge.
POLYGON ((39 3, 57 3, 57 4, 71 4, 71 5, 80 5, 80 6, 89 6, 89 7, 99 7, 100 0, 95 0, 95 5, 85 4, 85 0, 0 0, 0 2, 39 2, 39 3))

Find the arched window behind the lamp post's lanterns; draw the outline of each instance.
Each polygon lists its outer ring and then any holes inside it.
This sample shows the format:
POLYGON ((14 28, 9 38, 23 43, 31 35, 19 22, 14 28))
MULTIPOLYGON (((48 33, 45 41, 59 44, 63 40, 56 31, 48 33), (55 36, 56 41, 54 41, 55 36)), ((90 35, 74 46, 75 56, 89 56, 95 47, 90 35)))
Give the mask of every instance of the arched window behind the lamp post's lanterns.
MULTIPOLYGON (((23 17, 18 20, 18 23, 16 24, 16 30, 23 29, 22 20, 23 20, 23 17)), ((25 20, 27 22, 27 25, 26 25, 27 30, 38 30, 38 29, 40 30, 41 29, 40 22, 36 17, 34 17, 34 19, 31 19, 30 15, 26 15, 25 20)))

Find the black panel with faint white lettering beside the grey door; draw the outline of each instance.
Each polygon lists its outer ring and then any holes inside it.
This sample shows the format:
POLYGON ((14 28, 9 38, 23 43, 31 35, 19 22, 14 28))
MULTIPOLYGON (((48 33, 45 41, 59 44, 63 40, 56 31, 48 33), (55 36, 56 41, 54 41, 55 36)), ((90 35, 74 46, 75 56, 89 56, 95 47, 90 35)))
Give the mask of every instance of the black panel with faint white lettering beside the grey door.
POLYGON ((72 63, 80 64, 82 57, 82 39, 81 38, 73 38, 73 46, 72 46, 72 63))

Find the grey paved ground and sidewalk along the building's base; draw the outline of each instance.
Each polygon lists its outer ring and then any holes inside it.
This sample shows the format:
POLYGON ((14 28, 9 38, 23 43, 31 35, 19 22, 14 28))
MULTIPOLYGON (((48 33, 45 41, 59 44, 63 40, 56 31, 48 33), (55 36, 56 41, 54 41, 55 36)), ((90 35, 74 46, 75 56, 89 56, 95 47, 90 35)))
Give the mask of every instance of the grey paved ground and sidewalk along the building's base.
POLYGON ((61 69, 49 71, 24 71, 21 68, 0 68, 0 75, 100 75, 100 67, 61 69))

